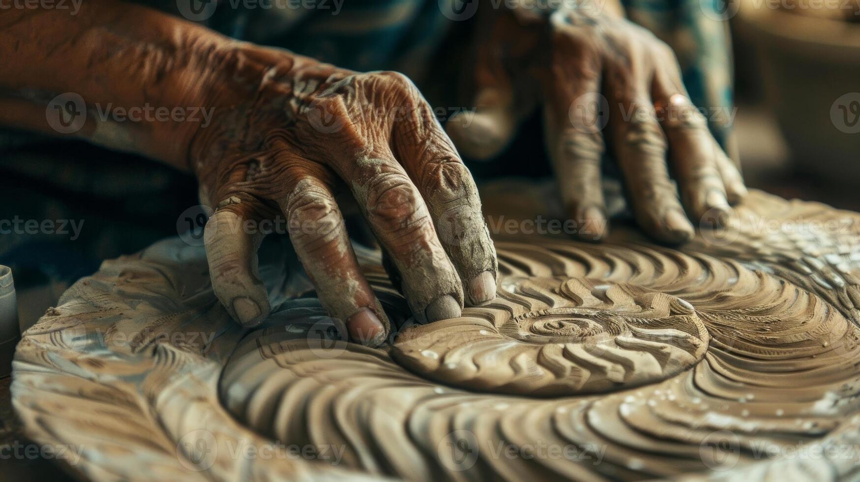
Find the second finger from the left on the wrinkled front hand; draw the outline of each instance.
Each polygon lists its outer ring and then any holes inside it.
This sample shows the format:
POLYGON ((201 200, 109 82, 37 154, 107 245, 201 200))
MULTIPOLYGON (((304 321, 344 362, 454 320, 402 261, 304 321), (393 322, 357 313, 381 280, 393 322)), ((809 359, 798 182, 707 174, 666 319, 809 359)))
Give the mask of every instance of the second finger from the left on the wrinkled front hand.
POLYGON ((322 307, 347 325, 353 341, 372 346, 383 343, 390 324, 361 274, 334 195, 324 182, 306 173, 286 177, 298 182, 287 187, 278 204, 322 307))

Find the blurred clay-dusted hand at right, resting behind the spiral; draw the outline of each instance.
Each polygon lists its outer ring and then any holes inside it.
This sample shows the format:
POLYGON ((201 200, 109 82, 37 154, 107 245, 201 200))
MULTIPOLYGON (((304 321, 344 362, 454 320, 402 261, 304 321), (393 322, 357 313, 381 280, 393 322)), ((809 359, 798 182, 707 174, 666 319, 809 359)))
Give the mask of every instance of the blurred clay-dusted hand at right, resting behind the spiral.
POLYGON ((488 158, 543 104, 548 151, 581 238, 606 234, 600 161, 609 144, 640 226, 662 241, 689 240, 667 157, 691 219, 719 217, 746 188, 687 96, 672 49, 611 3, 597 7, 496 15, 477 53, 478 114, 470 124, 451 119, 448 132, 464 154, 488 158))

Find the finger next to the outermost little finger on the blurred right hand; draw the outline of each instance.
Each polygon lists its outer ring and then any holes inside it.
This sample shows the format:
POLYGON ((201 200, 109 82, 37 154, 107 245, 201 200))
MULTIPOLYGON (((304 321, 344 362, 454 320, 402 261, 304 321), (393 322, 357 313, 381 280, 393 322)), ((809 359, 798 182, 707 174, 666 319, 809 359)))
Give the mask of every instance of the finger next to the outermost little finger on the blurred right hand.
POLYGON ((669 141, 669 154, 681 199, 692 219, 703 216, 719 219, 728 214, 728 199, 717 156, 725 156, 708 130, 707 122, 690 99, 661 85, 655 78, 655 105, 660 124, 669 141))

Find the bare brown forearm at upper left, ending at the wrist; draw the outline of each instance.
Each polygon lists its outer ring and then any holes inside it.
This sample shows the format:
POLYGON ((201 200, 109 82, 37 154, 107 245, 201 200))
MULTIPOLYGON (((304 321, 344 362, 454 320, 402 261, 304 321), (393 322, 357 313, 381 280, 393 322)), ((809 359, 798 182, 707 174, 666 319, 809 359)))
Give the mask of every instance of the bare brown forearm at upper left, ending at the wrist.
POLYGON ((186 169, 183 150, 198 126, 176 119, 196 112, 203 121, 200 84, 230 44, 206 28, 129 3, 84 0, 77 15, 4 10, 0 124, 83 137, 186 169), (63 113, 48 109, 67 92, 79 95, 87 109, 83 127, 73 133, 62 131, 77 126, 52 126, 52 115, 63 113), (167 133, 172 139, 164 139, 167 133))

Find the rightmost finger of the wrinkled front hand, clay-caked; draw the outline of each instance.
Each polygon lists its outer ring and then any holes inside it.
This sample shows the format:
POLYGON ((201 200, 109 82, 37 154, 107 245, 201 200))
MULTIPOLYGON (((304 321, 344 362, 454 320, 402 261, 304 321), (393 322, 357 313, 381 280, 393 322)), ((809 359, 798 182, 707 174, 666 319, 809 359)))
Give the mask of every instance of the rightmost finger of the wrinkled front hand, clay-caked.
POLYGON ((439 242, 460 275, 466 302, 493 300, 498 265, 478 189, 425 102, 419 101, 414 115, 396 122, 393 145, 427 203, 439 242))

